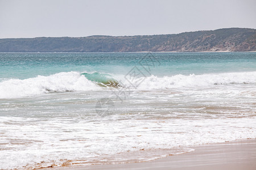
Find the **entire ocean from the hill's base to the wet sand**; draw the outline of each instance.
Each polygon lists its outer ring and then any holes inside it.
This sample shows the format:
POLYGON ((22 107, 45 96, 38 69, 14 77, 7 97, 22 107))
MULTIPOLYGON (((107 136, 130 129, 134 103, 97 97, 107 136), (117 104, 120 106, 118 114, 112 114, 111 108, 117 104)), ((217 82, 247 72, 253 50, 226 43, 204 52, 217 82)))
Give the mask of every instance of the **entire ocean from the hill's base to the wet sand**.
POLYGON ((0 53, 0 169, 144 162, 255 122, 255 52, 0 53))

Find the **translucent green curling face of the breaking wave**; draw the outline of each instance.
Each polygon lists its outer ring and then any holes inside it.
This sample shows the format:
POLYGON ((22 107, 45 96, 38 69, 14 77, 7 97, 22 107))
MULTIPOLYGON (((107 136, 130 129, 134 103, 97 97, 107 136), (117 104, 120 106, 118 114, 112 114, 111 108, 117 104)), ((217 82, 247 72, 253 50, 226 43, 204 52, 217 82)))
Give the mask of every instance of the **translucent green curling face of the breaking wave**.
POLYGON ((86 79, 97 82, 99 86, 102 87, 119 87, 119 83, 117 80, 115 80, 112 75, 110 74, 104 74, 104 73, 81 73, 81 75, 84 75, 86 79))

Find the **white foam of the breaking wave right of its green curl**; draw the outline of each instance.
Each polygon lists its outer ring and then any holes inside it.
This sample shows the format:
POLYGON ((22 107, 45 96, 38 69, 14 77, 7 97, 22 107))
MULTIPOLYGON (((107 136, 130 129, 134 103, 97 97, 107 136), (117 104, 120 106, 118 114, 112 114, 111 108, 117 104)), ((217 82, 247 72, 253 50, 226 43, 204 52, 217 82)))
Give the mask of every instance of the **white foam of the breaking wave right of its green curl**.
MULTIPOLYGON (((131 86, 128 80, 122 80, 126 86, 131 86)), ((202 75, 174 75, 158 76, 151 75, 142 80, 135 78, 138 89, 166 89, 180 87, 205 87, 216 84, 238 84, 238 83, 256 83, 256 71, 245 73, 221 73, 221 74, 202 74, 202 75)), ((132 82, 132 83, 133 83, 132 82)), ((135 83, 134 83, 135 84, 135 83)))

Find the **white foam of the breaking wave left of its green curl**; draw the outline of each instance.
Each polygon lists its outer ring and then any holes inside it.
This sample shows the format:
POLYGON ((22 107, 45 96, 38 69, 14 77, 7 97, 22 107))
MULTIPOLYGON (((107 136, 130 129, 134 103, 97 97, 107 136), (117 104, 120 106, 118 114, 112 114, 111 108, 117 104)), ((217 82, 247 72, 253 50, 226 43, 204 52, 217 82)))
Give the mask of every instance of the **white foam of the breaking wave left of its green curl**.
POLYGON ((57 73, 29 79, 9 79, 0 82, 0 99, 46 94, 51 91, 97 90, 95 83, 78 72, 57 73))

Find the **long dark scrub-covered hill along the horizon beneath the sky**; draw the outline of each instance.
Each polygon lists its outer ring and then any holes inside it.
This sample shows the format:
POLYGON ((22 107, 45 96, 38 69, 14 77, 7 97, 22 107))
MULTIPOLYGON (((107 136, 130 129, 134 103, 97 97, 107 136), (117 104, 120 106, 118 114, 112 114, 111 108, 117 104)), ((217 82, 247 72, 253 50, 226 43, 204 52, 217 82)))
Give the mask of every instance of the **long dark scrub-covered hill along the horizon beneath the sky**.
POLYGON ((224 28, 151 36, 0 39, 0 52, 243 52, 256 50, 256 29, 224 28))

